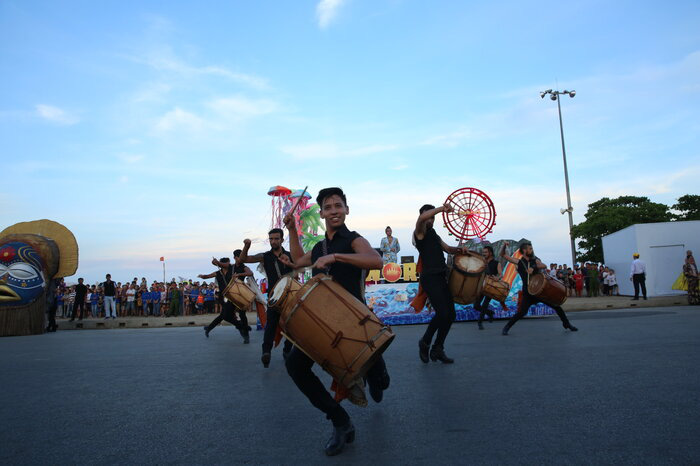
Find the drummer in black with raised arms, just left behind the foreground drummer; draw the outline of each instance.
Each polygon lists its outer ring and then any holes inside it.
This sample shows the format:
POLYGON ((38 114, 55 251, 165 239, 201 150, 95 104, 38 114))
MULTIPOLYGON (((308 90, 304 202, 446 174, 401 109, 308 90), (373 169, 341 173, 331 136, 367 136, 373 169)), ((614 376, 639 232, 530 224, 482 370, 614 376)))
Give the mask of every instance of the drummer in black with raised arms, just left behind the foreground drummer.
MULTIPOLYGON (((285 262, 281 262, 280 258, 286 256, 289 260, 286 263, 290 263, 292 256, 289 252, 285 251, 282 247, 282 242, 284 241, 284 232, 281 228, 273 228, 267 234, 267 238, 270 241, 270 250, 264 253, 255 254, 254 256, 248 255, 248 250, 250 249, 250 240, 246 239, 243 241, 243 253, 241 254, 241 260, 243 262, 257 263, 262 262, 265 268, 265 275, 267 276, 267 297, 268 301, 270 296, 272 296, 272 290, 275 285, 282 278, 283 275, 288 275, 294 272, 294 268, 285 265, 285 262)), ((270 367, 270 359, 272 353, 272 345, 275 342, 275 334, 277 332, 277 324, 280 320, 280 311, 275 307, 267 308, 267 324, 265 325, 265 336, 263 337, 263 354, 260 360, 264 367, 270 367)), ((289 340, 284 341, 284 348, 282 350, 282 355, 287 359, 287 355, 292 350, 292 343, 289 340)))

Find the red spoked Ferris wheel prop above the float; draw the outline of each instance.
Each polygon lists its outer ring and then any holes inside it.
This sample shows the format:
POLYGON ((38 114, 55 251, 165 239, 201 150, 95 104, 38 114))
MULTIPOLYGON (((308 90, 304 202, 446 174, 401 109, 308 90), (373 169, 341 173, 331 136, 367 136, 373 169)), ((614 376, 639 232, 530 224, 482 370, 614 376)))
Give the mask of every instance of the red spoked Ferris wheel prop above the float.
POLYGON ((445 200, 453 212, 442 213, 445 227, 461 240, 483 238, 496 224, 496 208, 485 192, 476 188, 461 188, 445 200))

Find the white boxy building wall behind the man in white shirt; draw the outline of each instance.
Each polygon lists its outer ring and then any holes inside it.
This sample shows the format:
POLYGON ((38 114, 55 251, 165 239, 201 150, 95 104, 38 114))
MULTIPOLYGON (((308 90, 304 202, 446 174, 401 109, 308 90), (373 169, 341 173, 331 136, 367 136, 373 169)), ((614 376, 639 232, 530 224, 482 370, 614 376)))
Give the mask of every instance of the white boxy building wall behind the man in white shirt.
POLYGON ((629 280, 632 254, 647 265, 649 296, 678 294, 671 289, 683 267, 685 251, 700 255, 700 221, 643 223, 603 237, 605 264, 615 269, 620 294, 632 295, 629 280))

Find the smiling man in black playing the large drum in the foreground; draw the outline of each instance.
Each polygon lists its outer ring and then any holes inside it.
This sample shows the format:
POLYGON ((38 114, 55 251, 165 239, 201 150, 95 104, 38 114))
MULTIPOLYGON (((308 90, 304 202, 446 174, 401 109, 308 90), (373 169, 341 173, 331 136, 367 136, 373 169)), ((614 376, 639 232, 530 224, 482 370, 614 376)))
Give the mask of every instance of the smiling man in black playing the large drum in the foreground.
MULTIPOLYGON (((345 216, 349 209, 345 194, 340 188, 322 189, 316 202, 321 207, 320 215, 326 223, 326 237, 310 252, 304 253, 301 247, 294 218, 288 214, 284 219, 289 230, 294 266, 313 266, 314 275, 326 273, 332 276, 353 296, 365 302, 364 271, 381 269, 382 258, 365 238, 345 226, 345 216)), ((333 435, 326 444, 326 454, 337 455, 346 443, 355 440, 355 427, 345 409, 313 373, 313 365, 314 361, 297 347, 292 349, 287 358, 287 372, 296 386, 333 423, 333 435)), ((381 356, 367 372, 367 384, 374 401, 380 402, 384 390, 389 387, 389 374, 381 356)))

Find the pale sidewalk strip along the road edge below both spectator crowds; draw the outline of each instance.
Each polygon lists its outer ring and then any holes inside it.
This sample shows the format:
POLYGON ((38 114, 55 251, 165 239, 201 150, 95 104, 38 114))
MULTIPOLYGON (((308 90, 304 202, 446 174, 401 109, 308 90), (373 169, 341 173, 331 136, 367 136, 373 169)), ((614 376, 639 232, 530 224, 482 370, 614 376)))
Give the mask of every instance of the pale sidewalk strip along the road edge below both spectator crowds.
MULTIPOLYGON (((640 299, 632 301, 629 296, 601 296, 597 298, 569 298, 564 303, 566 312, 597 311, 606 309, 629 309, 632 307, 668 307, 684 306, 688 304, 685 295, 661 296, 649 298, 647 301, 640 299)), ((202 327, 208 325, 216 314, 179 317, 119 317, 105 320, 104 318, 87 318, 82 321, 69 322, 68 319, 57 318, 59 330, 94 330, 114 328, 162 328, 162 327, 202 327)), ((255 330, 258 316, 248 313, 248 323, 255 330)), ((222 322, 222 325, 231 325, 222 322)))

